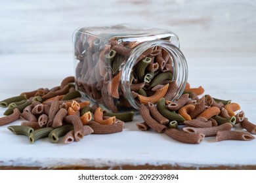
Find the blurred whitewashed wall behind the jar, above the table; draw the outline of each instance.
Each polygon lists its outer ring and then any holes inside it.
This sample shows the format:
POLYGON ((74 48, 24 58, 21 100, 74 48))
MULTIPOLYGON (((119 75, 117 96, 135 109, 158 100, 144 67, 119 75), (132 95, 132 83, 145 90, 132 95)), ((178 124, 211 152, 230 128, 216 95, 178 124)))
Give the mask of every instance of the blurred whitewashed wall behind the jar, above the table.
POLYGON ((72 54, 77 27, 123 23, 174 31, 187 58, 256 52, 255 0, 1 0, 0 54, 72 54))

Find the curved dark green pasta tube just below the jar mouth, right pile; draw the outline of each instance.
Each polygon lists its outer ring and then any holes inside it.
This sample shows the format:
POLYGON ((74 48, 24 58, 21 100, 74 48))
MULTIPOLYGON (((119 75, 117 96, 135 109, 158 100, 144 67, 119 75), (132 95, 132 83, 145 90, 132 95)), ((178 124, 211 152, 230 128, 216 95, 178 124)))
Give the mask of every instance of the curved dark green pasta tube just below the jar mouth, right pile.
POLYGON ((174 111, 170 111, 168 110, 167 107, 165 107, 165 98, 161 98, 156 107, 158 108, 159 112, 165 116, 165 118, 169 119, 170 121, 177 121, 178 124, 182 124, 184 122, 184 118, 180 115, 180 114, 177 114, 176 112, 174 111))

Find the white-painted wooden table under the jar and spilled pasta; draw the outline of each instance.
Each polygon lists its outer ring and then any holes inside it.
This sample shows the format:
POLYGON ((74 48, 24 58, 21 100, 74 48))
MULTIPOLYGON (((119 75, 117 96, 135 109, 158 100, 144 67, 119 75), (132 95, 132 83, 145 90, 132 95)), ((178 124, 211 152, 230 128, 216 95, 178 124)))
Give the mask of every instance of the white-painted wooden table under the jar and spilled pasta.
MULTIPOLYGON (((187 58, 188 82, 192 87, 202 85, 205 94, 239 103, 256 123, 255 58, 187 58)), ((0 100, 51 88, 74 75, 70 53, 0 55, 0 60, 0 100)), ((0 108, 0 116, 4 111, 0 108)), ((183 144, 165 134, 139 131, 137 122, 142 122, 139 114, 121 133, 88 135, 72 144, 53 144, 48 139, 30 144, 28 137, 1 126, 0 169, 256 169, 256 141, 216 142, 215 137, 207 137, 201 144, 183 144)))

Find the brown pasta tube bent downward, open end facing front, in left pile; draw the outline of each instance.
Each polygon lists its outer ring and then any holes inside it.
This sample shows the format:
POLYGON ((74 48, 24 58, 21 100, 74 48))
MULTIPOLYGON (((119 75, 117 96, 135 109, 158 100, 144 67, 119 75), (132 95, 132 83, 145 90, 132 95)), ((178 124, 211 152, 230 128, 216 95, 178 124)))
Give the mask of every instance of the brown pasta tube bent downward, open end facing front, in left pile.
POLYGON ((75 141, 80 141, 83 139, 83 123, 81 122, 80 118, 76 115, 66 116, 64 120, 70 124, 74 125, 74 137, 75 141))

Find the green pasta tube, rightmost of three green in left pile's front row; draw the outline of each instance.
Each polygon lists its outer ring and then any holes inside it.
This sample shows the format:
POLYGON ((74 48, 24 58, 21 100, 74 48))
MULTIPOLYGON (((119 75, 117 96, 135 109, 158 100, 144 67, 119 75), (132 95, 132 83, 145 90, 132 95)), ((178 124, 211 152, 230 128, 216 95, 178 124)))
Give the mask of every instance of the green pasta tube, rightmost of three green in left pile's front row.
POLYGON ((62 125, 61 127, 57 127, 49 133, 49 140, 56 143, 58 142, 59 137, 66 135, 72 129, 74 129, 74 125, 62 125))

